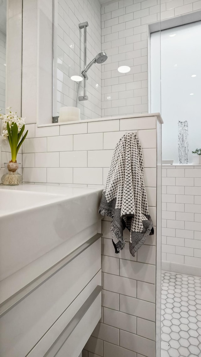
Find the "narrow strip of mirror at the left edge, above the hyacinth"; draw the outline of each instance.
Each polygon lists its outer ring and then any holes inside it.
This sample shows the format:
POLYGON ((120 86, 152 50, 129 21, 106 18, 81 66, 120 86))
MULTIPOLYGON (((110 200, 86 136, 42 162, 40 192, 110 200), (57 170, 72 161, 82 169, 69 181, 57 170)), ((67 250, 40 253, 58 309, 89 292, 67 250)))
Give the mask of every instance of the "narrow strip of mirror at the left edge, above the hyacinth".
POLYGON ((0 109, 6 107, 6 0, 0 0, 0 109))

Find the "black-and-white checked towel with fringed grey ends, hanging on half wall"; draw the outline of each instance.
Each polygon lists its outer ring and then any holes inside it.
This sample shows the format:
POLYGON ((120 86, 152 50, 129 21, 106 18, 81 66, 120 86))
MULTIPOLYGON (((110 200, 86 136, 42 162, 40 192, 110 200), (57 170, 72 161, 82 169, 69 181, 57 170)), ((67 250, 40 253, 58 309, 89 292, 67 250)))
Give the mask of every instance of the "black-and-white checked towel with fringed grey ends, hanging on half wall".
POLYGON ((115 252, 124 249, 123 230, 130 231, 129 249, 132 256, 154 234, 149 215, 143 156, 139 140, 134 133, 127 133, 115 147, 107 180, 102 193, 99 213, 112 218, 111 231, 115 252))

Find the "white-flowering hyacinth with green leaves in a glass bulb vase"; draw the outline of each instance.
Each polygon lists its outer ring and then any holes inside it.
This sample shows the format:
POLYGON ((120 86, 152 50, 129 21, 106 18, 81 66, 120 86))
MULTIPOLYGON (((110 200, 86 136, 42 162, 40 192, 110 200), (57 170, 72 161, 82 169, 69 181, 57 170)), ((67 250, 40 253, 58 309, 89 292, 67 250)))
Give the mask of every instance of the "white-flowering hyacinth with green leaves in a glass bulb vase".
POLYGON ((18 117, 16 112, 11 112, 10 109, 11 107, 6 109, 8 111, 6 114, 0 114, 0 119, 3 121, 2 139, 9 142, 11 149, 11 160, 4 163, 7 172, 2 176, 1 183, 3 185, 19 185, 22 183, 22 175, 17 172, 21 165, 17 162, 17 153, 27 136, 28 130, 22 137, 25 120, 18 117))

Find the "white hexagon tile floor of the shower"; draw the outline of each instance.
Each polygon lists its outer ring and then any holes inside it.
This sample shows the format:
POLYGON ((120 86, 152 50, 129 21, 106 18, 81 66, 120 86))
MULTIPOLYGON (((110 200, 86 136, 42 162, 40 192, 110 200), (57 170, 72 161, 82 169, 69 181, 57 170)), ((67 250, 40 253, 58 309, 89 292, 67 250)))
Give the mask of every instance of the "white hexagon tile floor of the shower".
POLYGON ((161 275, 161 357, 201 357, 201 277, 161 275))

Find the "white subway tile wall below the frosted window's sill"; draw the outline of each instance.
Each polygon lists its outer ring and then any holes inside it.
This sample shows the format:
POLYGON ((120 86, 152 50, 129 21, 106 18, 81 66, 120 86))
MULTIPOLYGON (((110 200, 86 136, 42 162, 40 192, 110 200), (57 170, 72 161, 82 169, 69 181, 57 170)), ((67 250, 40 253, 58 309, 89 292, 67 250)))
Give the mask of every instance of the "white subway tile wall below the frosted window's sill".
POLYGON ((201 267, 201 166, 163 165, 162 176, 162 260, 201 267))

